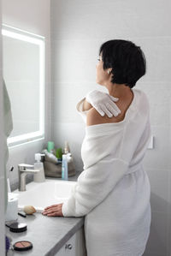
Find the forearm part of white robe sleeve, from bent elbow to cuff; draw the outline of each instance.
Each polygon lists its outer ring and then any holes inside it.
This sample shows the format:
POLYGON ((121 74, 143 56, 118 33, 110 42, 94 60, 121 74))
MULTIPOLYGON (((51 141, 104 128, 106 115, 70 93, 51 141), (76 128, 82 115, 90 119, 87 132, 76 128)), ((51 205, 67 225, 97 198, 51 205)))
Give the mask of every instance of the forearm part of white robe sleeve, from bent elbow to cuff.
POLYGON ((83 170, 68 201, 62 205, 64 217, 81 217, 102 203, 127 172, 128 165, 121 159, 103 158, 83 170))

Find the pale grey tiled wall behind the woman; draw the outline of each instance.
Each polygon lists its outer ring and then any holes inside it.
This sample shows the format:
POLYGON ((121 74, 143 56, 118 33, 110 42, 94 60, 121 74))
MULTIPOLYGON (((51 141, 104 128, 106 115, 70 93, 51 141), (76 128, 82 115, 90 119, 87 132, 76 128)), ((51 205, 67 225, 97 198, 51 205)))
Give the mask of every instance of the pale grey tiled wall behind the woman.
POLYGON ((147 74, 136 86, 149 97, 155 136, 155 148, 144 159, 152 210, 144 256, 171 253, 170 8, 168 0, 51 0, 52 138, 57 146, 68 140, 77 170, 82 170, 84 124, 75 105, 86 92, 100 88, 95 82, 99 46, 109 39, 130 39, 147 58, 147 74))

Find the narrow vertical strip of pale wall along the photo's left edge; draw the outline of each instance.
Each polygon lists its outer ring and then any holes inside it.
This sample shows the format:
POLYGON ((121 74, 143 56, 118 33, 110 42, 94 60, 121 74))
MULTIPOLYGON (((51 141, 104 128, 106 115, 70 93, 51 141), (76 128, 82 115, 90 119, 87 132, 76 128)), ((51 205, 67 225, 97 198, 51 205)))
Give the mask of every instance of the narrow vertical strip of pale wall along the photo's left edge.
MULTIPOLYGON (((1 8, 1 0, 0 0, 0 30, 2 27, 2 8, 1 8)), ((0 141, 3 141, 3 66, 2 66, 2 35, 0 33, 0 141)), ((4 158, 4 149, 3 143, 0 143, 0 256, 5 255, 5 243, 4 243, 4 235, 5 235, 5 225, 4 225, 4 166, 3 166, 3 158, 4 158)))

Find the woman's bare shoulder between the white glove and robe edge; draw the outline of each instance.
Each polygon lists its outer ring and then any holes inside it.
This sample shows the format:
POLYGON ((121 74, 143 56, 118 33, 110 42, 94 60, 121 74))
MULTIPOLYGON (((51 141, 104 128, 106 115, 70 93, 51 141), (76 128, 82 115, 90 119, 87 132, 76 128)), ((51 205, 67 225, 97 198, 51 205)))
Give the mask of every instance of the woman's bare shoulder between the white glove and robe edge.
POLYGON ((108 122, 121 122, 124 119, 123 115, 108 117, 107 115, 101 116, 96 109, 91 108, 86 115, 86 125, 91 126, 95 124, 108 123, 108 122))

